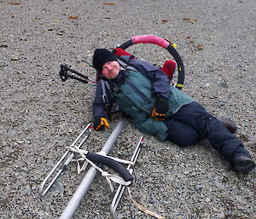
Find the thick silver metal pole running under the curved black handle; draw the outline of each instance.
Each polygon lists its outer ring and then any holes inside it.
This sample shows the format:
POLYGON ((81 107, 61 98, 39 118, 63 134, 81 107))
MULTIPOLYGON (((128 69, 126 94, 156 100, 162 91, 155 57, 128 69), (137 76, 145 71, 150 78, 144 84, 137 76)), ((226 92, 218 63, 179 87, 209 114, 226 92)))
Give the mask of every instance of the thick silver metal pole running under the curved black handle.
MULTIPOLYGON (((107 155, 111 148, 113 147, 113 143, 117 140, 120 131, 123 129, 124 123, 119 122, 117 126, 114 128, 111 135, 108 137, 108 141, 102 147, 101 153, 107 155)), ((67 207, 62 212, 60 219, 70 219, 74 215, 75 211, 79 208, 79 205, 84 198, 85 193, 89 190, 90 184, 93 182, 96 176, 96 169, 94 167, 90 167, 87 174, 84 176, 83 181, 80 183, 78 189, 73 194, 72 199, 67 204, 67 207)))

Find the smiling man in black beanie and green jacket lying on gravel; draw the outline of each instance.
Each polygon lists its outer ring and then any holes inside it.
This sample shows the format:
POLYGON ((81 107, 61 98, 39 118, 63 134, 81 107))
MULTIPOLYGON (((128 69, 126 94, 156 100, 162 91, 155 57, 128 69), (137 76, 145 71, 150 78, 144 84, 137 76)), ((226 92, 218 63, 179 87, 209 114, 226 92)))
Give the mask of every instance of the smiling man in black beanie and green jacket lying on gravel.
POLYGON ((93 66, 101 78, 93 103, 95 130, 108 128, 110 115, 106 106, 116 102, 131 123, 145 134, 180 147, 207 138, 236 172, 247 174, 255 168, 243 143, 198 102, 170 86, 160 68, 130 55, 119 58, 125 61, 125 66, 120 66, 108 49, 96 49, 94 53, 93 66))

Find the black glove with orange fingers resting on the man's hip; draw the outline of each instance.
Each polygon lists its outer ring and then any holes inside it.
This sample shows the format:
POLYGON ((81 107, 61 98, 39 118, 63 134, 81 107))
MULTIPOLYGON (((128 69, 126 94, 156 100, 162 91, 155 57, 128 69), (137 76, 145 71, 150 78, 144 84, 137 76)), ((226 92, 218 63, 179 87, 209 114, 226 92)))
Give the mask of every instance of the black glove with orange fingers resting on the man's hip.
POLYGON ((156 121, 164 121, 168 111, 168 99, 164 96, 156 97, 151 117, 156 121))

